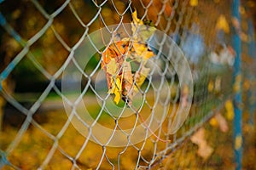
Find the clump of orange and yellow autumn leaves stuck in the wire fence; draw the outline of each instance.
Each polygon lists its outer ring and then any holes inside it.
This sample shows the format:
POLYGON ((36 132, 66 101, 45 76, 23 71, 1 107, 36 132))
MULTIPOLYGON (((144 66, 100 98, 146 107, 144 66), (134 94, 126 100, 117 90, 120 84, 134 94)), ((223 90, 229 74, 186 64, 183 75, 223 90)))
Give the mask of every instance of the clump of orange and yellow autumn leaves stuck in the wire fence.
POLYGON ((131 104, 132 98, 137 94, 148 76, 149 69, 146 68, 147 60, 154 56, 154 53, 145 44, 155 31, 154 27, 144 26, 143 21, 137 18, 137 11, 132 14, 131 31, 132 47, 130 38, 123 38, 121 41, 113 42, 102 53, 102 70, 106 73, 108 82, 108 93, 114 94, 114 102, 118 105, 120 99, 127 99, 131 104), (131 61, 127 61, 130 59, 131 61), (130 62, 142 62, 142 68, 136 72, 136 80, 131 71, 130 62), (137 86, 133 85, 134 82, 137 86))

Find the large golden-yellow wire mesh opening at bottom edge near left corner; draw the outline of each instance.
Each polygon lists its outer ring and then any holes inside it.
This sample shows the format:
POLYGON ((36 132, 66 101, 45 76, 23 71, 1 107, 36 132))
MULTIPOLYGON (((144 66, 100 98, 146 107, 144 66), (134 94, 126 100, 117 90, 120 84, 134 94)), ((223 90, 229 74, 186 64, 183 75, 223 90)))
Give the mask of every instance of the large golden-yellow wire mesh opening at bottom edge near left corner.
POLYGON ((9 161, 22 169, 35 169, 44 161, 53 142, 38 128, 28 127, 21 137, 20 144, 9 154, 9 161))

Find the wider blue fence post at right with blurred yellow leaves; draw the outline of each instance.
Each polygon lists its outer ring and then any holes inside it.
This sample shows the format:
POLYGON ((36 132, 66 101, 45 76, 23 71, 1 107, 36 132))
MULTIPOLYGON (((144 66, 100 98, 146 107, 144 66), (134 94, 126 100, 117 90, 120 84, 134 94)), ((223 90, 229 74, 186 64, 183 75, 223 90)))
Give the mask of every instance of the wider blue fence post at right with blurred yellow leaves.
POLYGON ((234 150, 235 150, 235 161, 236 170, 241 169, 242 159, 242 132, 241 132, 241 119, 242 119, 242 106, 241 106, 241 38, 240 23, 241 15, 239 12, 240 0, 233 0, 232 2, 232 21, 233 21, 233 37, 232 46, 236 51, 236 59, 234 64, 234 75, 233 75, 233 91, 234 91, 234 112, 235 117, 233 121, 234 128, 234 150))

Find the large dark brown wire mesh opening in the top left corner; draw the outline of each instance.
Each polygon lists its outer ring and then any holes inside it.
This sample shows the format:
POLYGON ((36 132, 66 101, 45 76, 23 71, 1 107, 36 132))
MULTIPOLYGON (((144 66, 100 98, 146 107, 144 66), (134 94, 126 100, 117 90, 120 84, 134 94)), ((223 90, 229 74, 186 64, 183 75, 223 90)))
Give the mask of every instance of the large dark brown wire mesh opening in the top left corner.
POLYGON ((15 4, 9 2, 4 3, 1 12, 3 16, 8 17, 7 22, 19 32, 20 37, 29 39, 46 24, 47 20, 31 2, 15 4))

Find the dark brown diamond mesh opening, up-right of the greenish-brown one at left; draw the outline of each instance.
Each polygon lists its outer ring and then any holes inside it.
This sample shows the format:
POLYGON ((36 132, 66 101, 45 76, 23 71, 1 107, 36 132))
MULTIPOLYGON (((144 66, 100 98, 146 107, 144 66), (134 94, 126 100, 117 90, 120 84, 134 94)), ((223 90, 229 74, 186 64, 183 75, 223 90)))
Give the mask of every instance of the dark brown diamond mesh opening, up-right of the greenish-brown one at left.
MULTIPOLYGON (((61 13, 55 17, 53 26, 63 41, 67 43, 68 47, 73 47, 79 42, 79 38, 82 37, 84 33, 84 27, 80 25, 79 21, 73 15, 72 10, 68 7, 64 8, 61 13)), ((51 46, 55 47, 54 44, 51 46)))

